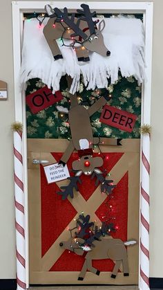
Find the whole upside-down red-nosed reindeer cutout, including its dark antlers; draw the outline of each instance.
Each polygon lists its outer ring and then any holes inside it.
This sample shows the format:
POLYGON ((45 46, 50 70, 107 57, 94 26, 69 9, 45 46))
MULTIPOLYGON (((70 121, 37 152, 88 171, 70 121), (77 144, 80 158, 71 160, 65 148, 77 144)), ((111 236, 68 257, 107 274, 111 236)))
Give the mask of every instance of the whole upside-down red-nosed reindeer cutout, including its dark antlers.
MULTIPOLYGON (((72 79, 68 78, 68 87, 70 87, 72 79)), ((68 186, 62 186, 61 192, 58 192, 62 195, 62 199, 66 199, 68 195, 73 198, 73 188, 78 191, 77 182, 80 182, 79 176, 85 174, 97 177, 98 181, 102 184, 102 192, 111 193, 111 189, 115 187, 113 181, 106 181, 102 175, 102 171, 98 169, 104 163, 102 157, 93 156, 93 144, 99 142, 99 138, 93 138, 93 131, 90 123, 90 116, 92 116, 96 111, 98 111, 102 106, 104 106, 109 100, 108 93, 101 98, 99 98, 92 106, 86 109, 82 105, 78 105, 77 96, 70 94, 70 110, 68 113, 68 122, 70 125, 70 132, 72 140, 64 152, 59 164, 65 165, 70 158, 70 155, 73 153, 74 149, 78 152, 78 159, 73 161, 72 167, 75 171, 75 176, 69 177, 70 183, 68 186)), ((57 106, 58 111, 64 112, 65 108, 57 106)), ((119 138, 109 138, 108 145, 121 145, 119 138)))

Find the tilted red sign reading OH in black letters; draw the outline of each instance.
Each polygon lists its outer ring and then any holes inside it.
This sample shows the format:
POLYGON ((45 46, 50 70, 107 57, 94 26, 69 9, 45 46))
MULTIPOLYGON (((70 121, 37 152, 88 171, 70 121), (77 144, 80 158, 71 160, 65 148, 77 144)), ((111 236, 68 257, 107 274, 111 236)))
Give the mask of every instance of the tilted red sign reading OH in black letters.
POLYGON ((26 96, 26 102, 30 107, 32 114, 37 114, 39 111, 48 108, 49 106, 55 104, 55 102, 59 102, 62 99, 63 96, 60 91, 56 91, 55 94, 53 94, 47 86, 26 96))

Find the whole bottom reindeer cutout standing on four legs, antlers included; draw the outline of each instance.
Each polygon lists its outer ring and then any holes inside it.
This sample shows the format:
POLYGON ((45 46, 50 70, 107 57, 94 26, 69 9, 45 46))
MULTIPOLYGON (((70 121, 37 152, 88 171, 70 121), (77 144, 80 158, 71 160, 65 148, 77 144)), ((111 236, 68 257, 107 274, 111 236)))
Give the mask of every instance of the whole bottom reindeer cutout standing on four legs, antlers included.
POLYGON ((78 280, 84 280, 87 270, 99 275, 100 271, 92 266, 92 261, 101 259, 111 259, 115 262, 111 278, 116 278, 121 264, 123 265, 124 276, 128 276, 128 257, 125 246, 131 246, 137 244, 137 242, 134 240, 122 242, 122 239, 105 237, 105 235, 109 235, 110 231, 113 230, 113 224, 107 226, 105 223, 102 223, 102 227, 99 229, 96 227, 95 233, 92 233, 90 237, 84 238, 86 233, 88 234, 86 230, 90 229, 93 223, 89 223, 89 215, 86 217, 79 215, 79 219, 81 219, 79 223, 81 230, 79 230, 79 233, 75 233, 75 237, 70 237, 67 242, 60 242, 59 244, 61 248, 73 251, 77 255, 83 255, 84 252, 87 252, 84 256, 85 262, 79 273, 78 280))

